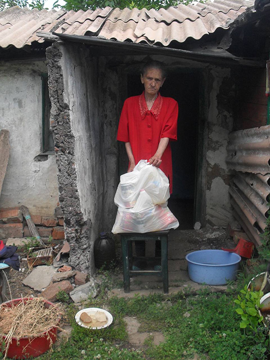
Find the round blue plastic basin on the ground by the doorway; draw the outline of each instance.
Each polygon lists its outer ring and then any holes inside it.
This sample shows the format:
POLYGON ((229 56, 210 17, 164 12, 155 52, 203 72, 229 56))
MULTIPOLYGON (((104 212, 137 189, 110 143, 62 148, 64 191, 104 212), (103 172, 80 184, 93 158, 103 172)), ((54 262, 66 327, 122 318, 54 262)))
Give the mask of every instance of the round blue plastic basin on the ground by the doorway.
POLYGON ((186 260, 192 281, 224 285, 236 279, 241 256, 223 250, 199 250, 188 254, 186 260))

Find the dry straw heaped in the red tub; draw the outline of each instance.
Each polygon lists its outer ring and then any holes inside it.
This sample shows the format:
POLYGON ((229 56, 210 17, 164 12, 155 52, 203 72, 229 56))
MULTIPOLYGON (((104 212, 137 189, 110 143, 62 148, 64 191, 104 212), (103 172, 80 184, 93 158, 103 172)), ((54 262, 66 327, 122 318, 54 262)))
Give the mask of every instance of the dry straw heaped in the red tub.
MULTIPOLYGON (((22 299, 9 308, 5 303, 0 306, 0 334, 6 336, 6 354, 12 338, 41 336, 52 327, 57 327, 60 320, 59 308, 51 305, 45 308, 43 298, 22 299)), ((5 356, 6 357, 6 356, 5 356)))

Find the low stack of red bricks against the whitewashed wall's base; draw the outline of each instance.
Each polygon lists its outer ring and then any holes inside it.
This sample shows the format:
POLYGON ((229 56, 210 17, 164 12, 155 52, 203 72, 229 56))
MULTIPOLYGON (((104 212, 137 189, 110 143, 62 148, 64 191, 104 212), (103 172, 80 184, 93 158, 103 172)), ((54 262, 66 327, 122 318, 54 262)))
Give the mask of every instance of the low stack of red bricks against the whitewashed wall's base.
MULTIPOLYGON (((64 219, 60 208, 56 208, 55 217, 32 215, 40 237, 44 240, 52 236, 53 240, 65 239, 64 219)), ((20 207, 0 209, 0 239, 31 237, 20 207)))

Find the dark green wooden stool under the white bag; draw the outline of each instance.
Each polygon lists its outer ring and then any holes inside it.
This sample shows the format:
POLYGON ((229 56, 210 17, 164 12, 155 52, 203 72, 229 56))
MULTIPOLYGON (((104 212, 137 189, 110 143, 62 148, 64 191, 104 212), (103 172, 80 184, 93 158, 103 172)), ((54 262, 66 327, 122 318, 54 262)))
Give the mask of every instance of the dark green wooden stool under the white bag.
MULTIPOLYGON (((146 233, 124 232, 120 233, 123 258, 124 292, 130 292, 130 277, 132 275, 160 275, 163 280, 163 291, 169 293, 168 278, 168 233, 169 230, 146 233), (136 240, 160 240, 161 243, 161 270, 133 270, 132 263, 135 257, 132 254, 132 241, 136 240)), ((144 258, 149 260, 149 258, 144 258)), ((150 258, 154 259, 154 258, 150 258)))

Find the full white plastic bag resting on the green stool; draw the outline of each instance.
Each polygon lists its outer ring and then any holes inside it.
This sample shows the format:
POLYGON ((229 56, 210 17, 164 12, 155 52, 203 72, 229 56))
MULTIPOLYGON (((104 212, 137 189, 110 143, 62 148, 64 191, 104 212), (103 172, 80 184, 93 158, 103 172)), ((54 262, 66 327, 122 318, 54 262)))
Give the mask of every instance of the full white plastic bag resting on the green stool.
POLYGON ((118 211, 113 233, 176 229, 177 219, 167 207, 169 181, 160 169, 140 160, 134 170, 120 177, 115 194, 118 211))

